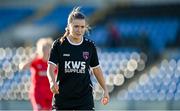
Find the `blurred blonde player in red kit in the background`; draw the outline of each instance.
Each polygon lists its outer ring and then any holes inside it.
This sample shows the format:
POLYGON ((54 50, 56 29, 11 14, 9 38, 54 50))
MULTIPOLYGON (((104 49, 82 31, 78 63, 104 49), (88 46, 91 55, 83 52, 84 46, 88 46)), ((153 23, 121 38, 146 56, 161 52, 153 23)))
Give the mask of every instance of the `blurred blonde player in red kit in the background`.
POLYGON ((21 63, 19 68, 22 70, 30 68, 31 87, 29 91, 30 101, 34 111, 51 110, 52 92, 47 78, 47 60, 52 45, 52 39, 41 38, 36 44, 36 55, 32 60, 21 63))

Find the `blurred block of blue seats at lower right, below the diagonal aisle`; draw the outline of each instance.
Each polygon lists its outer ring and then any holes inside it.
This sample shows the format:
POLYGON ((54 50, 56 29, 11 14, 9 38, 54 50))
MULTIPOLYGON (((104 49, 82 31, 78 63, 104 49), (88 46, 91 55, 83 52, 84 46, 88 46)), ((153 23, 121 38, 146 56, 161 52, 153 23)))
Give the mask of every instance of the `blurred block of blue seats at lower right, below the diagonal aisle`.
MULTIPOLYGON (((180 66, 178 65, 178 61, 179 60, 174 59, 169 61, 163 60, 158 65, 157 69, 154 67, 149 72, 142 74, 138 84, 137 82, 134 82, 128 86, 128 97, 124 100, 180 100, 180 69, 178 68, 180 66)), ((124 98, 125 95, 118 96, 124 98)))

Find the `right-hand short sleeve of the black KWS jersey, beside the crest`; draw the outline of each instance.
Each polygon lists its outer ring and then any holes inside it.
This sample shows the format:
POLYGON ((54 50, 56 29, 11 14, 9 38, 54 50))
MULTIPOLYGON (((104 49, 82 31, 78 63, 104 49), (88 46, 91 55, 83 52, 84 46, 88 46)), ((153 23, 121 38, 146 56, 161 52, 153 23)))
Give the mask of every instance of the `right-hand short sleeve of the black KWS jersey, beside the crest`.
POLYGON ((95 45, 93 44, 92 46, 92 56, 90 59, 90 67, 91 68, 96 68, 99 66, 99 60, 98 60, 98 55, 97 55, 97 50, 95 45))

